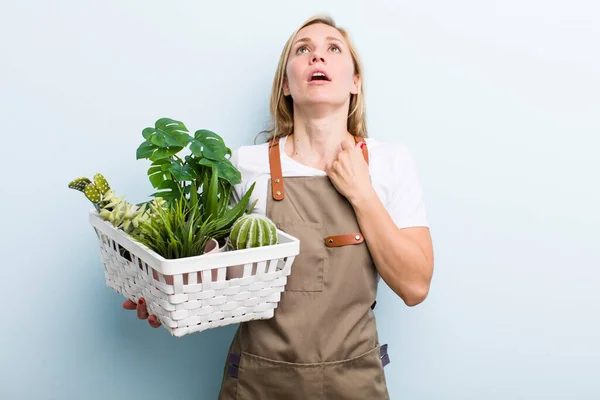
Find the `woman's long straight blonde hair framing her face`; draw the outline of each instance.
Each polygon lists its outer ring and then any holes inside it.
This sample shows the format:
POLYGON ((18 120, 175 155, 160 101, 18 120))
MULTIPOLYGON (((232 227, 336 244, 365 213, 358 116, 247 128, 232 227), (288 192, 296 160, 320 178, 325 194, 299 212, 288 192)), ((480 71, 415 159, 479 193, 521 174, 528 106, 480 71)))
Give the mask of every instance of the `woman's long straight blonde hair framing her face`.
POLYGON ((273 87, 271 89, 270 127, 259 133, 259 135, 267 134, 267 141, 274 137, 287 136, 294 131, 293 100, 291 96, 285 96, 283 94, 285 70, 287 68, 287 61, 290 56, 290 52, 292 51, 292 45, 296 34, 301 29, 314 24, 325 24, 337 29, 348 44, 350 55, 352 56, 352 61, 354 62, 354 73, 360 77, 360 84, 358 86, 358 93, 350 94, 349 110, 351 111, 348 113, 347 129, 348 132, 354 136, 367 137, 363 68, 356 48, 350 40, 348 32, 345 29, 338 27, 332 17, 328 15, 317 15, 309 18, 298 29, 296 29, 294 33, 292 33, 283 47, 283 51, 281 52, 279 64, 277 65, 277 71, 275 72, 275 77, 273 78, 273 87))

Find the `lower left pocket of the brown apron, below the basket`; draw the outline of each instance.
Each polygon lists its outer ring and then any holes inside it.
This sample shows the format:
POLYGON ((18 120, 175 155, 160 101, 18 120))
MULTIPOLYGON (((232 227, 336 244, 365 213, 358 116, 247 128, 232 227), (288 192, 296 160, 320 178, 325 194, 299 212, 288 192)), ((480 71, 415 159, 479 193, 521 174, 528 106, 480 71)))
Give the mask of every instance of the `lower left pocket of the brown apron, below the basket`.
POLYGON ((295 364, 242 353, 237 400, 322 398, 322 364, 295 364))

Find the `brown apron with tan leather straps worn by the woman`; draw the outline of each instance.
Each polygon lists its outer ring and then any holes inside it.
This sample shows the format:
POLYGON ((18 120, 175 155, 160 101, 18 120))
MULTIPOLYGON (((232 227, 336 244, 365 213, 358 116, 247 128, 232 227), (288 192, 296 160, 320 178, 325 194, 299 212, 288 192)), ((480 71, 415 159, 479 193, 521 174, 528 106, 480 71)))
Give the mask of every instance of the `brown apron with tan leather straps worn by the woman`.
MULTIPOLYGON (((219 399, 389 399, 377 272, 354 210, 327 176, 284 185, 278 138, 269 154, 267 216, 300 239, 300 254, 274 317, 240 324, 219 399)), ((366 145, 363 154, 368 162, 366 145)))

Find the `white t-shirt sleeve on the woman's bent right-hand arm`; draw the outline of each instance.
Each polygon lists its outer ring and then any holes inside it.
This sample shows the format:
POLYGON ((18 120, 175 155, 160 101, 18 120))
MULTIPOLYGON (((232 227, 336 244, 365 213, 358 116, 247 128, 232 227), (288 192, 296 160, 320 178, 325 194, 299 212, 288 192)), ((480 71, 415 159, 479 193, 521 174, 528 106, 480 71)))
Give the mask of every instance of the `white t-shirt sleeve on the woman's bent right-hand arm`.
POLYGON ((408 148, 400 146, 394 158, 394 187, 388 212, 399 228, 428 226, 421 183, 414 158, 408 148))

